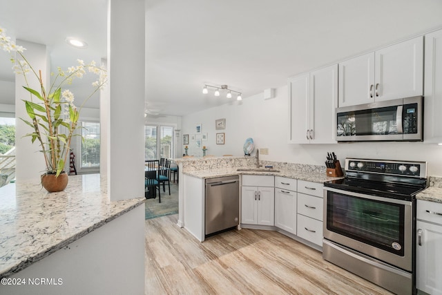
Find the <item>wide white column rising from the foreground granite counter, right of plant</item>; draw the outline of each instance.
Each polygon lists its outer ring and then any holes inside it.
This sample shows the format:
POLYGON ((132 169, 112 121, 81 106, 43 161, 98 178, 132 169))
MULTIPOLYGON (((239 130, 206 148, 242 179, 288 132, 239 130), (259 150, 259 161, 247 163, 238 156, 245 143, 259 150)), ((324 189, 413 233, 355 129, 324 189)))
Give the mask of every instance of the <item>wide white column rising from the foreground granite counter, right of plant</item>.
POLYGON ((108 193, 144 196, 144 0, 109 0, 108 193))

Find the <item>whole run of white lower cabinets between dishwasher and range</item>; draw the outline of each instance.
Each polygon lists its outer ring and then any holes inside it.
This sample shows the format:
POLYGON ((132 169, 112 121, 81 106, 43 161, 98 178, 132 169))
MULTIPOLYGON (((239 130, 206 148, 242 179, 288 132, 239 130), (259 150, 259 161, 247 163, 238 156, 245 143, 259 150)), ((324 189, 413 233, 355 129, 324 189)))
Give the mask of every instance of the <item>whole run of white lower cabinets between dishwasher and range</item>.
POLYGON ((241 224, 278 227, 322 247, 323 184, 269 177, 242 175, 241 224))

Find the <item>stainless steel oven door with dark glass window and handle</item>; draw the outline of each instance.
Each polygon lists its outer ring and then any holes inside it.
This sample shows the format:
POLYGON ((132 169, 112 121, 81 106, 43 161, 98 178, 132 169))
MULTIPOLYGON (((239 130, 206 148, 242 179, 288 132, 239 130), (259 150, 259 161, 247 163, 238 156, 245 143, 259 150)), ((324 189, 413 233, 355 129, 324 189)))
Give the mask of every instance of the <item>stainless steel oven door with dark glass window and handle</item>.
POLYGON ((412 272, 411 201, 325 189, 324 238, 412 272))

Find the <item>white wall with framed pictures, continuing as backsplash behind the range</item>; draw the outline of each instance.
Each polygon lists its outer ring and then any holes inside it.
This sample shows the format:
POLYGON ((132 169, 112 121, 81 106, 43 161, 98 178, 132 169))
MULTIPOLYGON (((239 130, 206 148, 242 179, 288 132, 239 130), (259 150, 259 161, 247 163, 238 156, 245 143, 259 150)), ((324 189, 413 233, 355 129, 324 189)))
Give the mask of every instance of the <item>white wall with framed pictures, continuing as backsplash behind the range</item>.
MULTIPOLYGON (((182 134, 195 134, 195 125, 202 124, 208 133, 206 145, 210 155, 244 155, 242 146, 252 137, 255 146, 269 148, 269 155, 261 160, 323 165, 327 151, 334 151, 343 163, 346 157, 386 160, 417 160, 428 162, 428 173, 442 175, 442 146, 423 142, 355 142, 340 144, 287 144, 288 111, 287 86, 276 90, 276 97, 262 98, 262 93, 182 118, 182 134), (225 118, 226 129, 215 130, 215 120, 225 118), (225 144, 215 144, 215 133, 224 132, 225 144)), ((220 99, 220 97, 213 97, 220 99)), ((221 98, 225 99, 225 98, 221 98)), ((425 136, 425 135, 424 135, 425 136)), ((182 145, 182 153, 184 146, 182 145)), ((202 151, 189 142, 189 155, 200 156, 202 151)))

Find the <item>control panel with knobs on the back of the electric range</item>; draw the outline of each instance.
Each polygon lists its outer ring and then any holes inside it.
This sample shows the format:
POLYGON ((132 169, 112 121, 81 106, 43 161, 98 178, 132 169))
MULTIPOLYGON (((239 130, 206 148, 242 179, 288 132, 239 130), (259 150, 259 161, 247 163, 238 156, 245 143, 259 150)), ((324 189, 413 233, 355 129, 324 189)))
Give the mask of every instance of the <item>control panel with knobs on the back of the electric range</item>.
POLYGON ((412 177, 427 177, 427 162, 407 162, 388 160, 345 159, 346 171, 361 171, 387 175, 407 175, 412 177))

